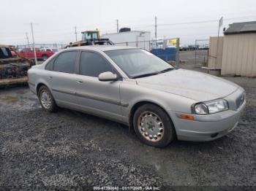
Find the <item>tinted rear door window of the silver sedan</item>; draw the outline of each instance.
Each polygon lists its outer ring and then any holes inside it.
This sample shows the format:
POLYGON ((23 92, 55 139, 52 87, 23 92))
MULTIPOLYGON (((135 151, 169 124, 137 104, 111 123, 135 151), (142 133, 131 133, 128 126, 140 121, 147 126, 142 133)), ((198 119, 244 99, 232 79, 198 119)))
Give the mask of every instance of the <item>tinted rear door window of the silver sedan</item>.
POLYGON ((65 73, 75 72, 75 60, 77 57, 77 52, 63 52, 56 58, 53 64, 53 71, 60 71, 65 73))

